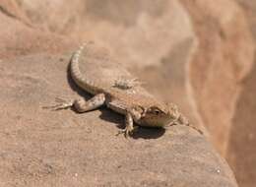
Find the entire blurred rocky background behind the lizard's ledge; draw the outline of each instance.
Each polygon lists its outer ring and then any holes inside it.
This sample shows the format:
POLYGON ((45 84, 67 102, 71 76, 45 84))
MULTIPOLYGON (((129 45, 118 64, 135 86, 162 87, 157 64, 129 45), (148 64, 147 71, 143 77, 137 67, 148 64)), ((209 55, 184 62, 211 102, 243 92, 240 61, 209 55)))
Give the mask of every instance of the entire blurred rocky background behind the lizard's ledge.
POLYGON ((209 132, 241 187, 255 186, 256 1, 1 0, 0 28, 1 59, 96 40, 209 132))

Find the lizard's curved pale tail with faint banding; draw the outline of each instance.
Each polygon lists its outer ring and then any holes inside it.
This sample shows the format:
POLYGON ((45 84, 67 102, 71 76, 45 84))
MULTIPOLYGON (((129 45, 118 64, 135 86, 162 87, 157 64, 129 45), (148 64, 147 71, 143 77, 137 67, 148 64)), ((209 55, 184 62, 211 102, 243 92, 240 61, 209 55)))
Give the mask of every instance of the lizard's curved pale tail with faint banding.
POLYGON ((73 54, 70 61, 70 73, 71 77, 74 82, 82 89, 86 90, 90 94, 96 94, 97 88, 95 83, 93 83, 90 79, 83 75, 79 69, 79 60, 81 53, 83 52, 84 48, 87 47, 89 44, 93 44, 93 41, 89 41, 83 43, 80 48, 73 54))

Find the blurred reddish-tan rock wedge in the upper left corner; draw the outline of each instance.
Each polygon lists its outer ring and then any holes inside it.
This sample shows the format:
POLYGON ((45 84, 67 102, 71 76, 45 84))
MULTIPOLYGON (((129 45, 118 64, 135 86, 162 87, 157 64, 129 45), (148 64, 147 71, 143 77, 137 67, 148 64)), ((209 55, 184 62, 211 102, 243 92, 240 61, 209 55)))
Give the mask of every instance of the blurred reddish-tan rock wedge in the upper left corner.
POLYGON ((34 28, 19 10, 14 1, 1 1, 0 7, 0 58, 10 58, 74 46, 74 42, 64 36, 34 28), (6 5, 6 7, 4 7, 6 5), (8 5, 8 6, 7 6, 8 5))

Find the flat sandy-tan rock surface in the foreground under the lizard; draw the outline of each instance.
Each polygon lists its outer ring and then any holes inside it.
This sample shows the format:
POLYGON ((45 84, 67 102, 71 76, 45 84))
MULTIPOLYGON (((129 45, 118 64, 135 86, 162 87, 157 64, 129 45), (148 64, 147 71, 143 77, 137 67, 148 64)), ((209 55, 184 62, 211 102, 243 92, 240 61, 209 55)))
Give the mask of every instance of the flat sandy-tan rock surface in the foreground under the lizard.
POLYGON ((67 76, 70 56, 1 60, 1 186, 236 186, 224 159, 188 127, 140 128, 125 139, 115 136, 123 116, 106 108, 43 109, 80 94, 67 76))

